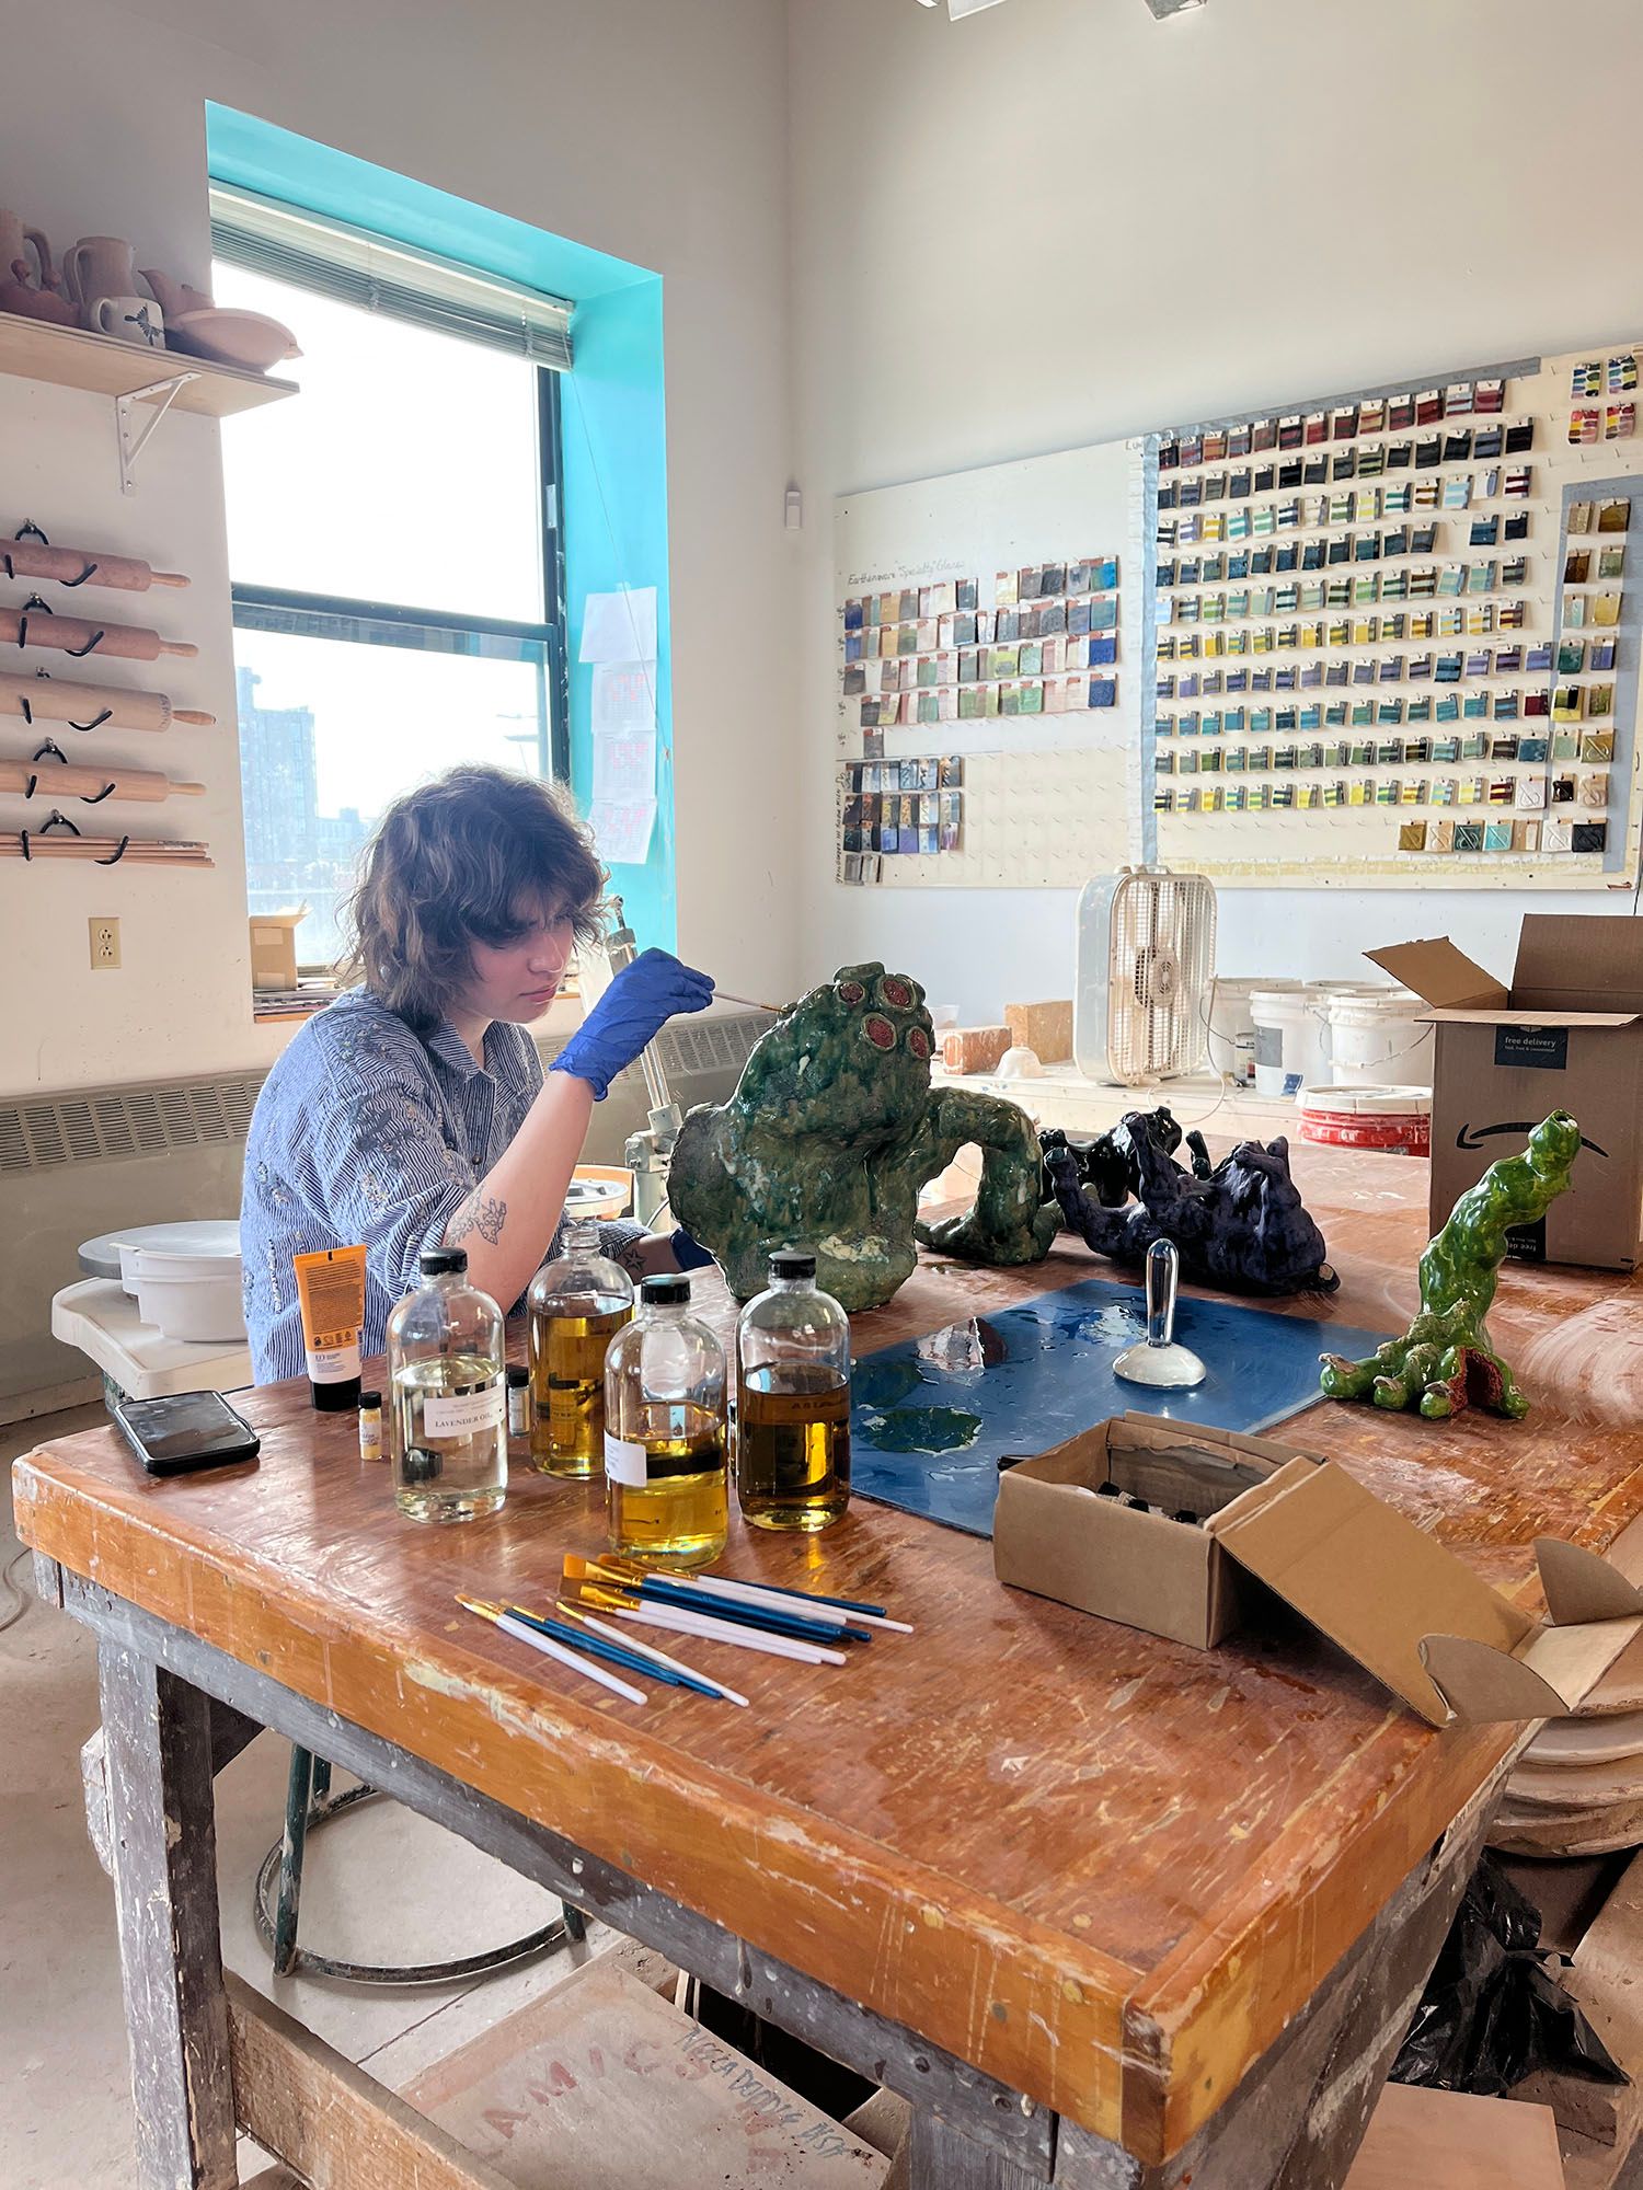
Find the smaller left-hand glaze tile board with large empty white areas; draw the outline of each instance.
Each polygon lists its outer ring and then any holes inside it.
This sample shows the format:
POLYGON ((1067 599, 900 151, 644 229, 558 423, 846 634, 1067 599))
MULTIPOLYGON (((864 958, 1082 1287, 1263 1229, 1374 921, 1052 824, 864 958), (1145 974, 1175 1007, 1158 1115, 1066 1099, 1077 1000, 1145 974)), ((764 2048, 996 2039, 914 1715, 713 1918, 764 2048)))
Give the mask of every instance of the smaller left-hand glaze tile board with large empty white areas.
MULTIPOLYGON (((916 486, 885 486, 835 504, 839 819, 848 793, 846 764, 870 756, 874 738, 887 762, 957 756, 964 764, 957 845, 929 856, 885 852, 878 858, 881 887, 1076 887, 1091 874, 1139 856, 1135 699, 1124 705, 1126 688, 1130 694, 1137 688, 1141 642, 1141 587, 1130 583, 1126 563, 1126 543, 1135 534, 1135 493, 1139 482, 1130 453, 1111 442, 916 486), (1098 633, 1111 642, 1111 648, 1100 650, 1111 650, 1113 659, 1054 675, 1062 683, 1082 679, 1084 701, 1091 677, 1100 685, 1111 683, 1111 699, 1102 692, 1100 705, 1062 707, 1054 701, 1065 701, 1065 690, 1052 701, 1041 690, 1049 672, 999 666, 997 675, 970 677, 966 685, 990 685, 995 692, 1003 685, 1038 688, 1036 705, 1043 712, 960 718, 957 692, 964 688, 944 679, 942 685, 924 685, 927 692, 951 694, 944 718, 883 727, 865 721, 878 710, 863 705, 872 696, 854 690, 861 679, 846 677, 854 668, 846 657, 859 657, 859 648, 846 644, 848 613, 859 613, 848 611, 848 602, 881 602, 892 593, 900 598, 970 583, 977 611, 986 615, 999 607, 999 574, 1014 578, 1027 567, 1067 569, 1080 563, 1104 565, 1089 576, 1108 583, 1091 583, 1071 598, 1080 604, 1100 602, 1093 607, 1098 620, 1115 618, 1098 633)), ((1058 598, 1069 598, 1067 585, 1058 598)), ((933 622, 940 626, 940 618, 933 622)), ((938 657, 927 675, 946 666, 940 657, 960 653, 957 646, 940 646, 940 629, 924 629, 914 633, 909 653, 900 659, 920 659, 911 650, 920 637, 931 639, 922 655, 938 657)), ((894 664, 898 657, 889 659, 894 664)), ((992 670, 992 664, 986 668, 992 670)), ((918 694, 916 683, 911 694, 918 694)), ((916 716, 918 707, 907 712, 916 716)))

